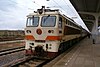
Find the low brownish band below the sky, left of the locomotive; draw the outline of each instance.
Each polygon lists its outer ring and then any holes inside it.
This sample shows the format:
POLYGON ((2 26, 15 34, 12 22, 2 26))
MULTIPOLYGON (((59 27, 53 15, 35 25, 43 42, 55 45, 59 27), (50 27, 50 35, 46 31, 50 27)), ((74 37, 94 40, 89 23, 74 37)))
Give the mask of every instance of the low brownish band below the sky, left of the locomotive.
POLYGON ((24 30, 0 30, 0 41, 24 39, 24 30))

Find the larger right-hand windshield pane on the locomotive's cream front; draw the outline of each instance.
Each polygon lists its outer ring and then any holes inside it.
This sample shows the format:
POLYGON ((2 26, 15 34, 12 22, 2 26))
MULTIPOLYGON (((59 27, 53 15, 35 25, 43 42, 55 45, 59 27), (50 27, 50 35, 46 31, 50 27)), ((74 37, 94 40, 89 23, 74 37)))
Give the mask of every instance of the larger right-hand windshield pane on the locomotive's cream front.
POLYGON ((56 24, 56 16, 43 16, 41 21, 42 27, 54 27, 56 24))

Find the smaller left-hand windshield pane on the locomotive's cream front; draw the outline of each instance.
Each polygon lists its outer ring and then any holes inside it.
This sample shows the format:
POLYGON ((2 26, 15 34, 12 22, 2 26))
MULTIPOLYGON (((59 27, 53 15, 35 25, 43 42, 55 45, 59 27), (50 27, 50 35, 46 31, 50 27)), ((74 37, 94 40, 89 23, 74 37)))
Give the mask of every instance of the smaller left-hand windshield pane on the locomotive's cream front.
POLYGON ((26 26, 38 26, 39 24, 39 17, 33 16, 33 17, 28 17, 27 18, 27 24, 26 26))

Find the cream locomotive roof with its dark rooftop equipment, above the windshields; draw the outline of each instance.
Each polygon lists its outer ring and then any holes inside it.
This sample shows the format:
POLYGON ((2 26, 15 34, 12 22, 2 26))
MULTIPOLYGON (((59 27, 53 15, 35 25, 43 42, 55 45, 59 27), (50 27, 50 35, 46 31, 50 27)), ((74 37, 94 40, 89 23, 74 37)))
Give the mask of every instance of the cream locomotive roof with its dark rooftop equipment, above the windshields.
POLYGON ((71 21, 72 23, 76 24, 80 27, 79 24, 77 24, 73 19, 67 17, 66 15, 60 13, 59 9, 51 10, 51 9, 37 9, 37 11, 34 11, 33 13, 30 13, 28 17, 32 17, 33 15, 61 15, 65 17, 67 20, 71 21), (42 14, 39 14, 39 11, 43 11, 42 14))

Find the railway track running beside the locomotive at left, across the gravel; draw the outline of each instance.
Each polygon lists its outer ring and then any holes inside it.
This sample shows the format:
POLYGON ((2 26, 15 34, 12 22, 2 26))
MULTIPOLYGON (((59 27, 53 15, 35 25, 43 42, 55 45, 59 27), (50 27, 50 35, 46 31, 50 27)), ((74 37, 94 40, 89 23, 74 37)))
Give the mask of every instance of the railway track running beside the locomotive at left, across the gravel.
POLYGON ((0 56, 25 50, 25 46, 0 50, 0 56))

